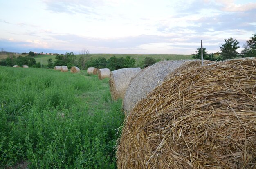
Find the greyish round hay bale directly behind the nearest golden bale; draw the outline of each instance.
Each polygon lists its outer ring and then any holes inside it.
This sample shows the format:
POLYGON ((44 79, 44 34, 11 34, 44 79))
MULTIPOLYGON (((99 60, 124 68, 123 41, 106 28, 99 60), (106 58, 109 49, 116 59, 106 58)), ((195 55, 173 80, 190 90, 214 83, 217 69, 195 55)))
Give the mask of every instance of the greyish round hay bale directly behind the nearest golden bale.
MULTIPOLYGON (((213 63, 204 61, 204 64, 213 63)), ((145 68, 135 76, 123 99, 123 109, 128 116, 135 104, 160 85, 165 77, 170 73, 178 73, 184 69, 201 66, 201 60, 179 60, 179 61, 160 61, 150 67, 145 68)))

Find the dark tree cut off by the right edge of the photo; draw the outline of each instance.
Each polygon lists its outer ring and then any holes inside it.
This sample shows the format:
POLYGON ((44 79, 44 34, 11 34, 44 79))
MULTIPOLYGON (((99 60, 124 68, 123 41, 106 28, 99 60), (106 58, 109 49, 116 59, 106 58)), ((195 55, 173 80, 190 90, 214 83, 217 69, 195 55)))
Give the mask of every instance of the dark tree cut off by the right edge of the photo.
POLYGON ((256 33, 250 40, 247 40, 241 52, 242 57, 256 57, 256 33))

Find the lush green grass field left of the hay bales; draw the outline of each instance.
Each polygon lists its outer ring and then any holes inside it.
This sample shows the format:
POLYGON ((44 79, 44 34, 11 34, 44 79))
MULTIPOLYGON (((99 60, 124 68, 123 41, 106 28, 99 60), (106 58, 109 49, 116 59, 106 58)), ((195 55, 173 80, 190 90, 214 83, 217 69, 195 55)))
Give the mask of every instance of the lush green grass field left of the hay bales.
POLYGON ((110 98, 85 72, 0 66, 0 168, 116 168, 124 115, 110 98))

